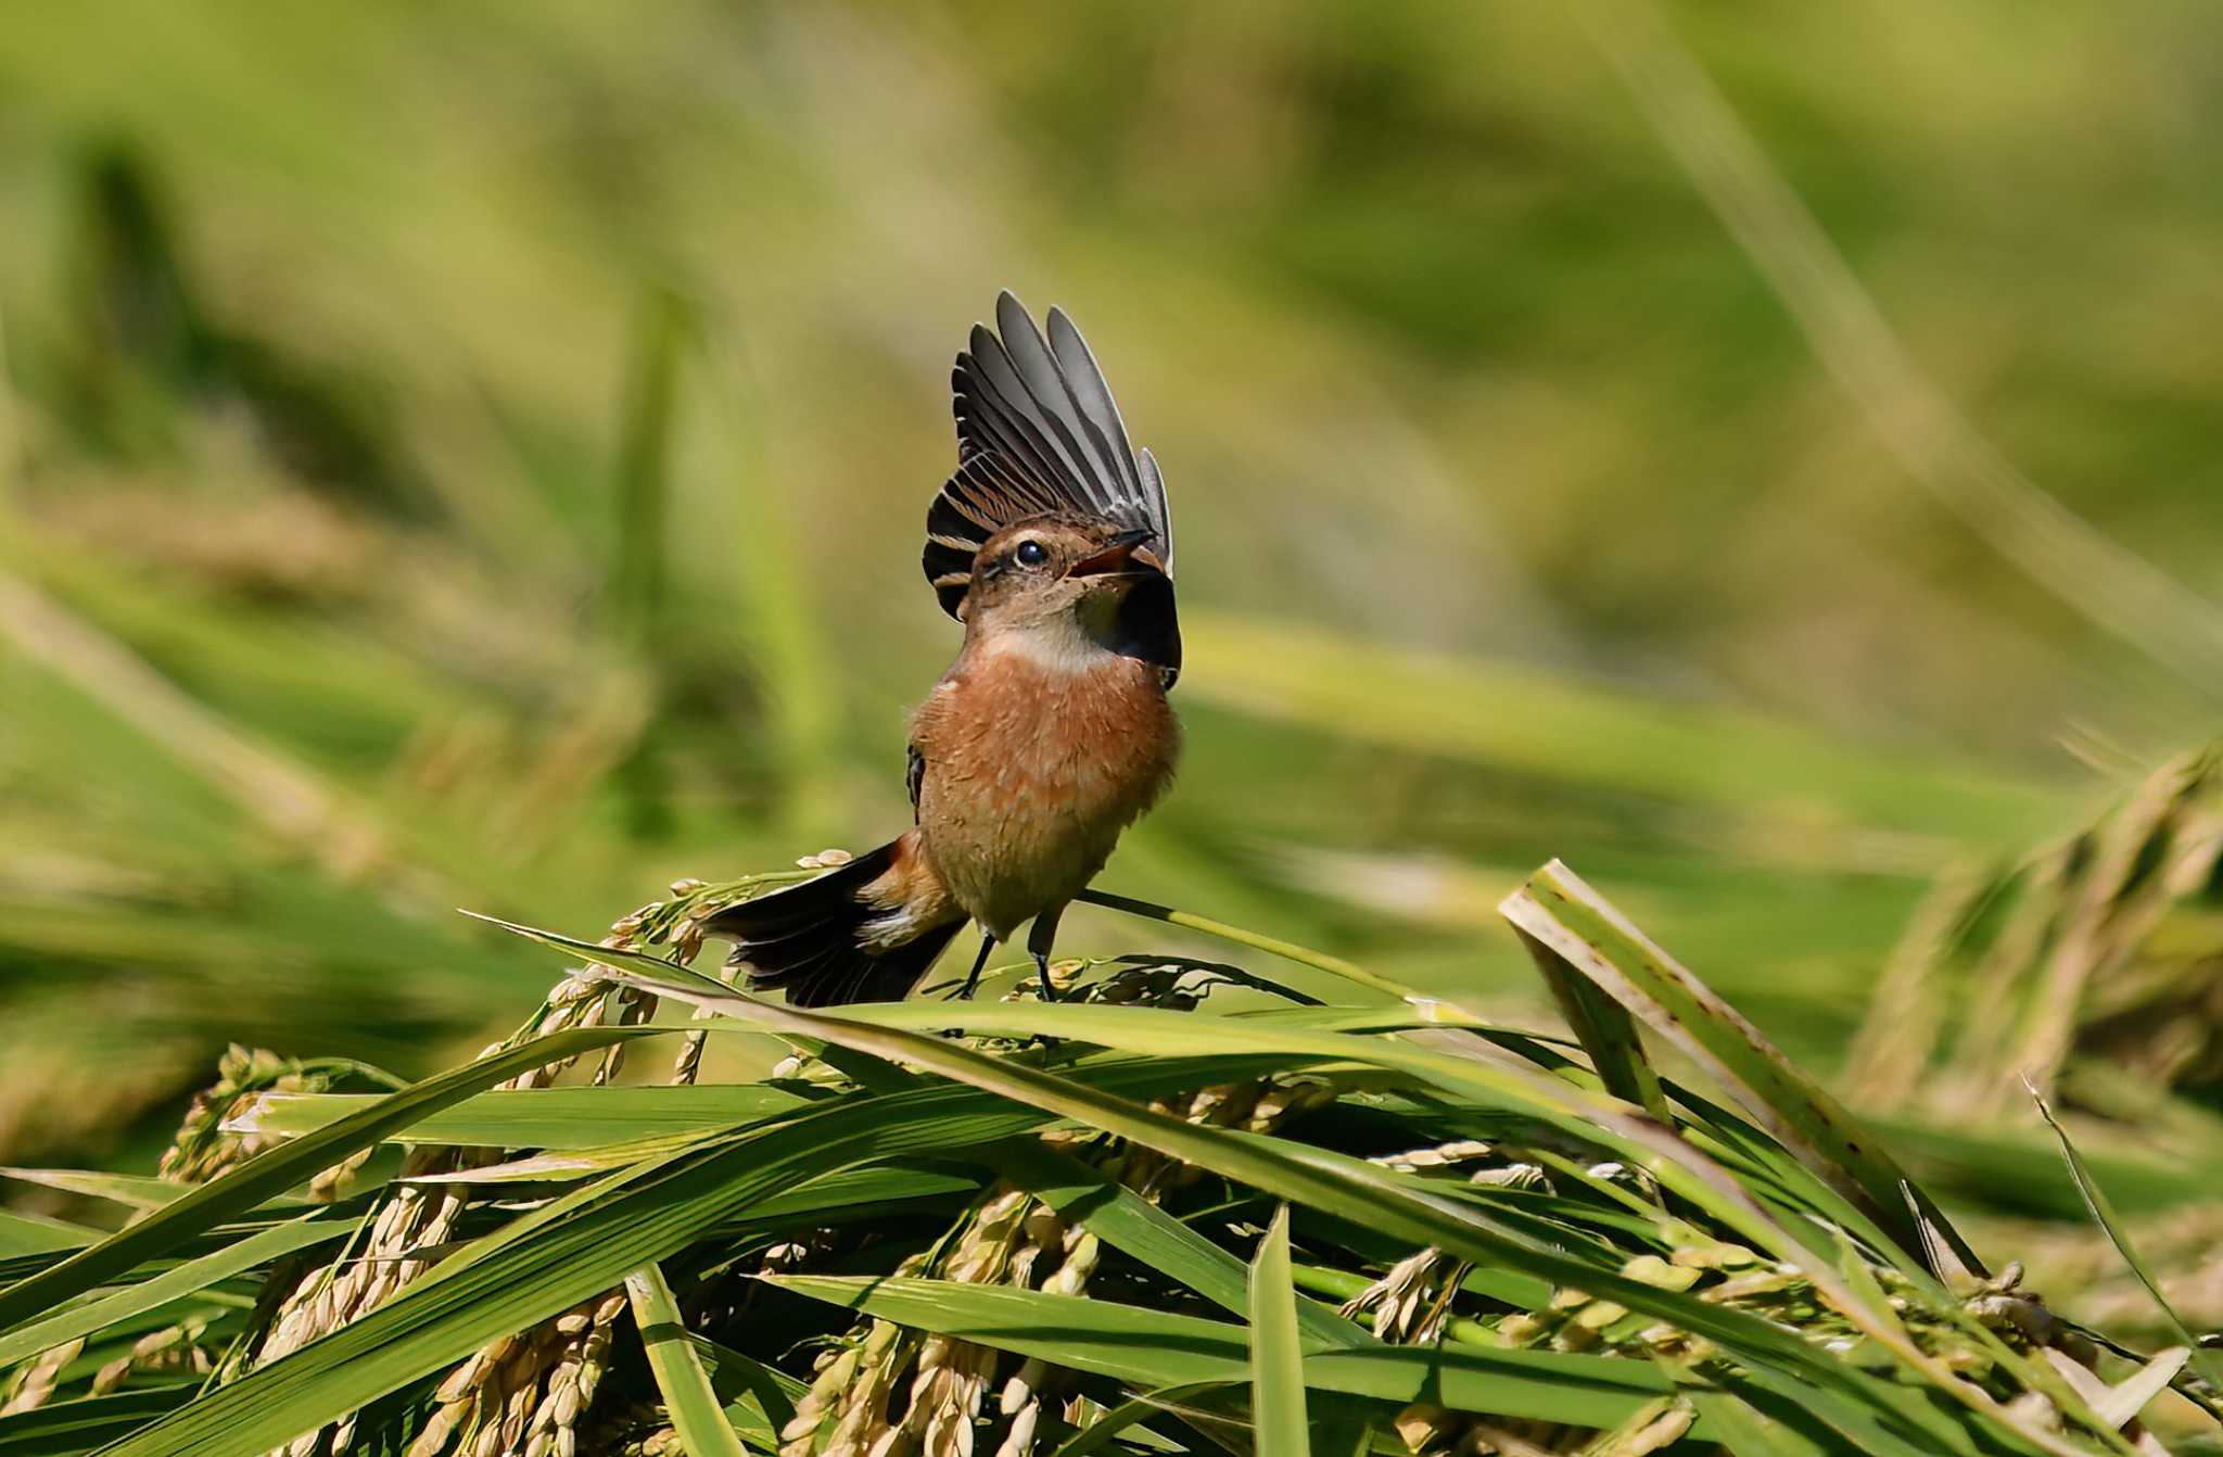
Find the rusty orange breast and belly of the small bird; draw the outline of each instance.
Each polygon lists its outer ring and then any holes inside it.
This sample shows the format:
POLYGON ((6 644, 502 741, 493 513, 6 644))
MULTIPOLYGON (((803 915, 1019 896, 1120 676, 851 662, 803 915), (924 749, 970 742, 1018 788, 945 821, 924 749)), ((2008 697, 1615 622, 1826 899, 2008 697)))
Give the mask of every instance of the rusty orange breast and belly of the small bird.
POLYGON ((1065 905, 1165 792, 1180 727, 1158 674, 965 654, 911 721, 918 825, 949 894, 998 939, 1065 905))

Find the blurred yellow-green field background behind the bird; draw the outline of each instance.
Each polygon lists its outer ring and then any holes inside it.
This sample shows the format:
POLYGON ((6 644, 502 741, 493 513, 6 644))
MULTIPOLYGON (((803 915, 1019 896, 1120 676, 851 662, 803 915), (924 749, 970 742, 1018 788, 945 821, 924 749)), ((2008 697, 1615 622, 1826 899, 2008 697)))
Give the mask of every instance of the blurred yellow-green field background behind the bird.
POLYGON ((231 1039, 467 1054, 549 965, 456 905, 894 834, 998 287, 1180 525, 1189 756, 1105 888, 1527 1012, 1556 854, 1832 1066, 1932 872, 2212 730, 2223 24, 1692 2, 1663 82, 1645 16, 16 7, 0 1159, 138 1157, 231 1039), (1725 229, 1707 76, 1903 356, 1725 229))

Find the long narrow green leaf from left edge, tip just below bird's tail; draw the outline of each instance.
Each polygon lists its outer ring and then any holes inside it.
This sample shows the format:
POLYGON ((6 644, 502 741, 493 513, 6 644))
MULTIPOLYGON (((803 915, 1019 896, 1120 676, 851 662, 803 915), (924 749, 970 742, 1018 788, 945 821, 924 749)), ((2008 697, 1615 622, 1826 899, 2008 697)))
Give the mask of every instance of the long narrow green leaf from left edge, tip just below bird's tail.
POLYGON ((189 1195, 147 1219, 109 1235, 69 1259, 0 1290, 0 1330, 51 1310, 71 1295, 104 1283, 142 1259, 153 1259, 233 1215, 242 1215, 273 1195, 282 1195, 318 1170, 331 1168, 358 1148, 369 1148, 409 1128, 427 1112, 460 1103, 487 1083, 516 1077, 616 1041, 651 1037, 656 1028, 578 1028, 536 1037, 529 1043, 482 1057, 473 1063, 429 1077, 402 1092, 371 1103, 291 1143, 265 1150, 220 1179, 196 1186, 189 1195))

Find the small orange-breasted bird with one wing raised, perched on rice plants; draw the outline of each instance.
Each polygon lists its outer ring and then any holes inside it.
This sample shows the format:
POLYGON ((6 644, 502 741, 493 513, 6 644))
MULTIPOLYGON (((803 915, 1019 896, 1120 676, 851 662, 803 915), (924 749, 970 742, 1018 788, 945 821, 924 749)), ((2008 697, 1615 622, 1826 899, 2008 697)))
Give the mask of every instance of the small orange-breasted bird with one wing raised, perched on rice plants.
POLYGON ((1031 921, 1045 1001, 1058 916, 1167 790, 1180 723, 1174 523, 1080 329, 1047 338, 1009 291, 951 371, 956 472, 920 556, 963 630, 909 721, 911 827, 845 865, 729 905, 702 930, 789 1005, 900 1001, 965 923, 980 950, 1031 921))

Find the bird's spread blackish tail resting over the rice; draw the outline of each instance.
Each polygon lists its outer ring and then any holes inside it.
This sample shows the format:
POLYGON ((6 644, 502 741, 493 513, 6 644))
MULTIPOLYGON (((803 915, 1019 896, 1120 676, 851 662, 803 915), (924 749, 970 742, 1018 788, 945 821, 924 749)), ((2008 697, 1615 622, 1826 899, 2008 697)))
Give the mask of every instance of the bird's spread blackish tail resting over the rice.
POLYGON ((891 841, 816 881, 729 905, 705 930, 734 941, 727 965, 747 968, 751 990, 785 990, 789 1005, 903 1001, 965 916, 929 925, 900 945, 863 945, 865 921, 887 910, 865 903, 860 892, 896 865, 898 848, 900 841, 891 841))

